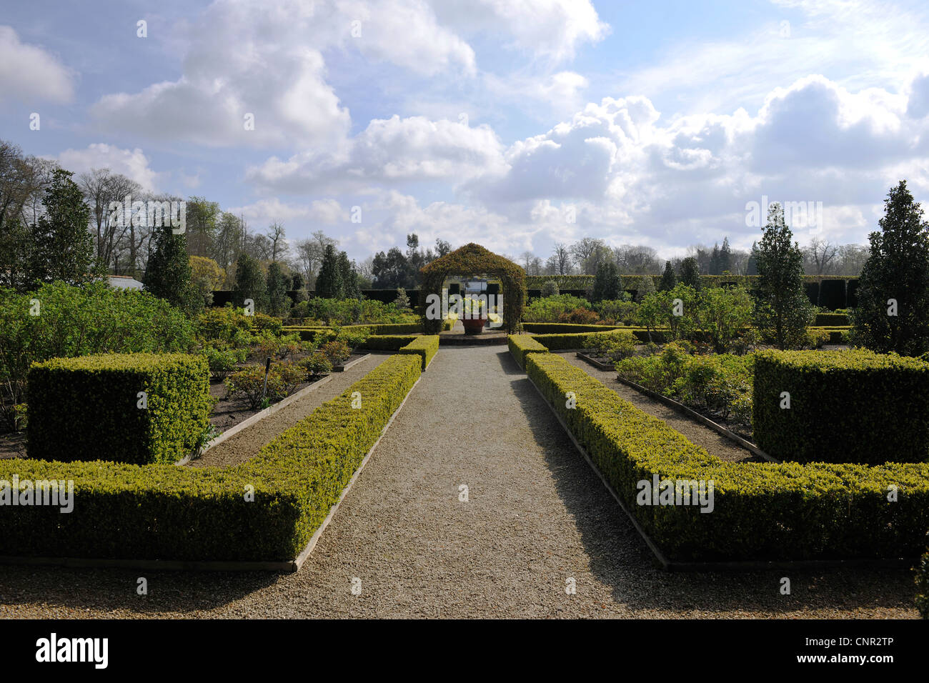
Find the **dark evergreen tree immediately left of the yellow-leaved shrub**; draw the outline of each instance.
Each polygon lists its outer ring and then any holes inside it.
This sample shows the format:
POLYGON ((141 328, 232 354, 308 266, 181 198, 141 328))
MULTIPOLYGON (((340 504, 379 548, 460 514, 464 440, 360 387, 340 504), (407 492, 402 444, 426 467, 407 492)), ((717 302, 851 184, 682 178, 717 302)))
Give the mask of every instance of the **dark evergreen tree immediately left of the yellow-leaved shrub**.
POLYGON ((203 296, 199 296, 190 282, 192 270, 187 256, 187 234, 176 234, 170 225, 152 230, 151 256, 145 269, 146 291, 189 313, 203 309, 203 296))

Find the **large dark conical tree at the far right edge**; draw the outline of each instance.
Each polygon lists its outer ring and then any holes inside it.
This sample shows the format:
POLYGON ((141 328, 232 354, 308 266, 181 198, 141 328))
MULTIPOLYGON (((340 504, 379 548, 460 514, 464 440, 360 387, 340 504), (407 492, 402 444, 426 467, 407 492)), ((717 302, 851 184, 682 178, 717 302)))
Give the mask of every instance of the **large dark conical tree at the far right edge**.
POLYGON ((906 180, 883 204, 881 231, 870 233, 858 280, 854 341, 879 353, 919 356, 929 351, 929 222, 906 180))

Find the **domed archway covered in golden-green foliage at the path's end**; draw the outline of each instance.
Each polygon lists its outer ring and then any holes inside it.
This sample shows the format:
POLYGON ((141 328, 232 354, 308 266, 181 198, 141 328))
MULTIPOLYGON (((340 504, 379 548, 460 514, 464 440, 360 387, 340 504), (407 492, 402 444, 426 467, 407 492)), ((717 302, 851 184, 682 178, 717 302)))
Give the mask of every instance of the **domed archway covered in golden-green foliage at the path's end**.
POLYGON ((509 333, 517 331, 526 301, 526 272, 513 261, 497 256, 480 244, 469 243, 437 258, 420 272, 423 275, 423 284, 419 300, 427 334, 438 335, 442 329, 442 321, 425 317, 425 302, 429 300, 429 295, 442 296, 442 285, 450 275, 493 275, 500 278, 504 285, 504 330, 509 333))

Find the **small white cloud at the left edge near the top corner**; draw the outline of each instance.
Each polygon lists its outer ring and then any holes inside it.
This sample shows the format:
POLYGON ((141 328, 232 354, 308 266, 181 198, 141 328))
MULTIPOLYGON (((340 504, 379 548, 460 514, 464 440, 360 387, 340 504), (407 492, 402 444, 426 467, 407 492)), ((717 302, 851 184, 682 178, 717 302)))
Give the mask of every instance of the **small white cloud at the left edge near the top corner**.
POLYGON ((43 47, 20 42, 10 26, 0 26, 0 101, 70 102, 75 74, 43 47))

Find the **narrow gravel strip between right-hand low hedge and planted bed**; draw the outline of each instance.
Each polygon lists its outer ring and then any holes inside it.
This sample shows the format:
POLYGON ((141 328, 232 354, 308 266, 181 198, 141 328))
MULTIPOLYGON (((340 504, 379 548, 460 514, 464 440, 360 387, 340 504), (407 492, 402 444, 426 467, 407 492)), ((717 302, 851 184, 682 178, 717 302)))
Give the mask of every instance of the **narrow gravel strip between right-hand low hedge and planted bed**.
POLYGON ((674 429, 686 436, 687 439, 696 443, 698 446, 702 446, 708 453, 715 455, 721 460, 746 463, 765 462, 765 458, 755 455, 748 449, 742 448, 734 441, 726 439, 726 437, 717 431, 713 431, 710 427, 701 425, 696 420, 691 420, 687 415, 678 413, 661 401, 649 399, 648 396, 636 391, 633 387, 626 387, 626 385, 621 382, 617 382, 615 370, 599 370, 589 362, 578 358, 573 351, 569 353, 559 353, 558 355, 571 365, 581 368, 585 373, 600 380, 606 387, 611 388, 622 396, 623 399, 635 405, 636 408, 640 408, 649 415, 654 415, 664 420, 668 425, 674 427, 674 429))

